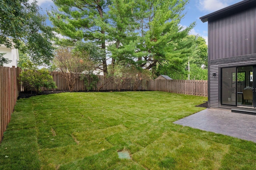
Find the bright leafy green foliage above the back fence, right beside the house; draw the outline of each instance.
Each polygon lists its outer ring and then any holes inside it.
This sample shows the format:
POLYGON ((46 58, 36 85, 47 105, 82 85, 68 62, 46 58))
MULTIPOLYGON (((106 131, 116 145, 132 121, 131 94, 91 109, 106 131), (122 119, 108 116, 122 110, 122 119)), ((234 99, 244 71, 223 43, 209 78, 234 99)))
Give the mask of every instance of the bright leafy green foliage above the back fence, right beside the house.
POLYGON ((168 63, 159 64, 156 76, 165 74, 173 79, 207 79, 208 56, 206 41, 198 35, 188 35, 183 40, 184 57, 176 57, 168 63), (186 55, 185 55, 186 54, 186 55))

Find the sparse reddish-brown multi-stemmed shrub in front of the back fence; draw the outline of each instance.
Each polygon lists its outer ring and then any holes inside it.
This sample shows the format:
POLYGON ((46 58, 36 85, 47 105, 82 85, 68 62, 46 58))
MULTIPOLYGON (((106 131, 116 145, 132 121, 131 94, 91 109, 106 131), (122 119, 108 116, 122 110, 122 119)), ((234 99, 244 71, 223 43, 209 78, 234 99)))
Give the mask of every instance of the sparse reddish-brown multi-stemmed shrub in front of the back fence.
POLYGON ((98 51, 98 47, 91 43, 78 43, 73 50, 71 48, 61 47, 55 52, 54 64, 61 71, 70 92, 74 91, 74 85, 80 76, 81 79, 84 78, 87 81, 87 85, 88 78, 94 78, 94 84, 88 85, 88 90, 94 88, 95 83, 98 82, 97 77, 83 77, 82 74, 92 74, 93 70, 97 67, 98 58, 102 55, 98 51))

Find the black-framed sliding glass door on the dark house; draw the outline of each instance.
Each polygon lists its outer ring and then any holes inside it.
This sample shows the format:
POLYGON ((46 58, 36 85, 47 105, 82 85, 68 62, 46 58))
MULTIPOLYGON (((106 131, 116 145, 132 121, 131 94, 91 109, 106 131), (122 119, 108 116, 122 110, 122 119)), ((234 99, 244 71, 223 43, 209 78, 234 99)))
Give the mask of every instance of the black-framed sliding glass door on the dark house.
POLYGON ((253 106, 256 66, 222 68, 221 104, 229 106, 253 106))

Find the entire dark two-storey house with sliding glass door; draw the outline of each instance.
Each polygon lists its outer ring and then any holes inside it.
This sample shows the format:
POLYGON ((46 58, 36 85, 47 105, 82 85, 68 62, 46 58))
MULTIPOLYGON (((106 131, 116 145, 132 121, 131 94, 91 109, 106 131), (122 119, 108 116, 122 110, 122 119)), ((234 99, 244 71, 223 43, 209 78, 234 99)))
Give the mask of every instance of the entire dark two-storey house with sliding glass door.
POLYGON ((208 107, 256 111, 256 0, 200 20, 208 21, 208 107))

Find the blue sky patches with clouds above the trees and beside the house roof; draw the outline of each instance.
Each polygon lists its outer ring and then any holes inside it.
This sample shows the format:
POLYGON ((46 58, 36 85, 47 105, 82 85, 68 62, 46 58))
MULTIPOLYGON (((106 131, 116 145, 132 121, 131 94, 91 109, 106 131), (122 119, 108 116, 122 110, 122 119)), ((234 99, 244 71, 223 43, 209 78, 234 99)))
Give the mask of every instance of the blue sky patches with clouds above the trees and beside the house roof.
MULTIPOLYGON (((30 0, 32 2, 32 0, 30 0)), ((37 0, 38 6, 42 8, 42 13, 46 14, 47 10, 51 10, 51 6, 54 6, 52 0, 37 0)), ((202 23, 200 17, 225 8, 227 6, 241 2, 242 0, 190 0, 186 5, 184 12, 186 15, 181 21, 181 25, 186 27, 192 22, 196 22, 196 26, 191 30, 190 34, 200 35, 207 41, 208 38, 208 26, 207 22, 202 23)))

